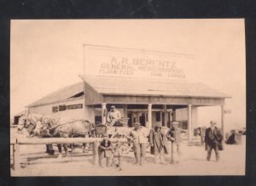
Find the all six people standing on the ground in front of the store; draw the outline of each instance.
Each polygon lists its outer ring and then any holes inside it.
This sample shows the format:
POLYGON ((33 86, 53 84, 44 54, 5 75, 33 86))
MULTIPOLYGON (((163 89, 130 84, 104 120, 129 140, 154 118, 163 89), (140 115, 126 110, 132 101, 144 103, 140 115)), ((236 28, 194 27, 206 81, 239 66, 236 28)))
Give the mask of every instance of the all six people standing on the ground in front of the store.
MULTIPOLYGON (((207 161, 211 159, 212 149, 215 151, 216 161, 219 160, 218 151, 223 149, 223 135, 216 127, 216 124, 216 121, 211 121, 211 127, 207 128, 205 134, 207 161)), ((154 155, 155 163, 166 164, 165 154, 169 155, 170 153, 172 164, 177 164, 180 161, 182 150, 181 133, 185 131, 178 126, 179 123, 173 121, 172 126, 166 132, 161 127, 161 123, 155 123, 154 128, 149 132, 150 154, 154 155), (171 141, 171 150, 169 149, 168 141, 171 141)), ((146 149, 148 147, 148 135, 145 127, 141 127, 141 124, 136 122, 130 136, 127 138, 131 139, 133 143, 135 163, 142 166, 145 162, 146 149)), ((106 157, 107 166, 110 166, 110 161, 112 160, 113 165, 121 170, 122 152, 123 149, 120 142, 113 146, 108 139, 108 135, 105 135, 99 146, 99 165, 102 166, 102 158, 106 157)))

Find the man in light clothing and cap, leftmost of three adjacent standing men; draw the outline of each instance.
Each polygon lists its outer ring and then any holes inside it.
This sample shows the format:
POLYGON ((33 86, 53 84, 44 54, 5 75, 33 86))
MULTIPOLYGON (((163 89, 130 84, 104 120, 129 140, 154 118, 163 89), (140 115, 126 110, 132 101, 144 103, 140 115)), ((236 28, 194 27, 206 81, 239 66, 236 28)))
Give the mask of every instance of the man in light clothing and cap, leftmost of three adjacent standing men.
POLYGON ((134 129, 131 131, 130 136, 133 142, 136 164, 142 166, 146 155, 146 144, 148 143, 146 131, 141 127, 139 122, 136 122, 134 123, 134 129))

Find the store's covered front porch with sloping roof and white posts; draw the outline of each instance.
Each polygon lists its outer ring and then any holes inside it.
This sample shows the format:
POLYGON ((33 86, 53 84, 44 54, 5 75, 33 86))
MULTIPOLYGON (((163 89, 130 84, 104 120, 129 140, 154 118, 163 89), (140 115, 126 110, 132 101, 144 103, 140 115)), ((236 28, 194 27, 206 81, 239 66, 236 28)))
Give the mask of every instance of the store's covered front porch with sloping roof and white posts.
POLYGON ((145 127, 155 122, 169 127, 176 121, 177 110, 187 110, 187 120, 181 127, 189 130, 192 138, 195 121, 192 110, 199 106, 220 106, 224 129, 224 93, 206 85, 191 82, 153 81, 146 79, 107 76, 81 76, 84 80, 84 104, 95 109, 96 123, 106 122, 106 110, 115 105, 122 117, 129 118, 127 127, 139 121, 145 127))

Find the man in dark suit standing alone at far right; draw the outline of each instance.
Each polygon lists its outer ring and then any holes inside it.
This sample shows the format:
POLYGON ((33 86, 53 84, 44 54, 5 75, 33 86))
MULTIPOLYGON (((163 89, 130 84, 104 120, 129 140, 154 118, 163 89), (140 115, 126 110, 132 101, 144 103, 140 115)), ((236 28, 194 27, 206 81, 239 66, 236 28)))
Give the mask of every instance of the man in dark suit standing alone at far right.
POLYGON ((223 135, 218 127, 216 127, 216 121, 210 121, 211 127, 206 130, 205 143, 207 150, 207 161, 210 161, 212 149, 215 151, 216 161, 219 160, 218 150, 222 149, 223 135))

